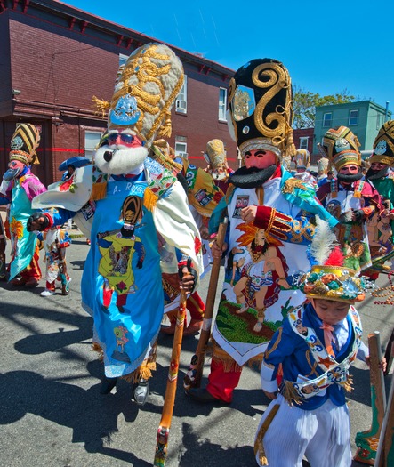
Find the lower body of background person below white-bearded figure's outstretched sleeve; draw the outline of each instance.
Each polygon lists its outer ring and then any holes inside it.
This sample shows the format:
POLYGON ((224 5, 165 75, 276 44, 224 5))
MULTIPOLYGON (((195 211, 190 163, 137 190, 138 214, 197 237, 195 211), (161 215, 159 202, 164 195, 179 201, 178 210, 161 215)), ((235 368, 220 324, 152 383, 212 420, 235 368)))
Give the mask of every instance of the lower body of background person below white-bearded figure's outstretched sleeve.
POLYGON ((61 294, 69 294, 70 278, 67 272, 66 248, 71 244, 71 238, 65 229, 52 227, 40 234, 45 251, 45 290, 41 292, 42 297, 50 297, 55 293, 56 280, 60 280, 61 294))

